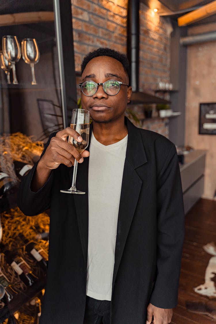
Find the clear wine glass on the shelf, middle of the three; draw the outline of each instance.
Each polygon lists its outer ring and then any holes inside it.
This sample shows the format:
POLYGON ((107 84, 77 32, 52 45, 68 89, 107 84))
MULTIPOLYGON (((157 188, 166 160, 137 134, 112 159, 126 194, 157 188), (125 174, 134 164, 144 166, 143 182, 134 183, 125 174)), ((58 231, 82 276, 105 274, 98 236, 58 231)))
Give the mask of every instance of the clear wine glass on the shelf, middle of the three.
POLYGON ((21 50, 17 36, 2 37, 2 52, 6 60, 11 63, 13 71, 13 84, 18 84, 15 63, 21 57, 21 50))

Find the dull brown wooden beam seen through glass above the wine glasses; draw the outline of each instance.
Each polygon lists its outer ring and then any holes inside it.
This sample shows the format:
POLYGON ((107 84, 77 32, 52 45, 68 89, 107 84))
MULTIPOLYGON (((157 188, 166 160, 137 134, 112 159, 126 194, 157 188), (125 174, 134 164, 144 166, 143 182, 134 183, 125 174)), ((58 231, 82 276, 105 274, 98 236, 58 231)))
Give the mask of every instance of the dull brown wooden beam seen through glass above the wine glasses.
POLYGON ((54 21, 53 11, 19 12, 16 14, 0 15, 0 26, 35 24, 54 21))

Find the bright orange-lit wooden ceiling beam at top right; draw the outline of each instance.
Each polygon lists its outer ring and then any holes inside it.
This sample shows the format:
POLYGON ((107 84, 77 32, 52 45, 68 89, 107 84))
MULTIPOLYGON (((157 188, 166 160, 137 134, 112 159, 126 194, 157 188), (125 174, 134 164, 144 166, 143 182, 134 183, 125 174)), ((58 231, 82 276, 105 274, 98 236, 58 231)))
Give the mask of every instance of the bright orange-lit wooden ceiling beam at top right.
POLYGON ((178 18, 178 26, 187 26, 216 13, 216 0, 178 18))

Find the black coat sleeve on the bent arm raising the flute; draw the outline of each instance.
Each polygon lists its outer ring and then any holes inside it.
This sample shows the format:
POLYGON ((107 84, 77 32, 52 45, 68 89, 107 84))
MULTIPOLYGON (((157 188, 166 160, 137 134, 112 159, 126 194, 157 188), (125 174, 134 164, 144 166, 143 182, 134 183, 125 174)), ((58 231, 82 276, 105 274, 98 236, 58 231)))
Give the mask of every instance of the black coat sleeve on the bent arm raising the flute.
MULTIPOLYGON (((47 144, 44 147, 44 150, 41 154, 45 153, 50 140, 56 133, 52 133, 49 137, 47 144)), ((37 192, 31 191, 31 181, 34 175, 34 172, 37 168, 38 162, 34 167, 28 172, 27 176, 23 177, 17 196, 17 205, 20 210, 28 216, 38 215, 45 210, 50 208, 50 198, 51 198, 51 186, 53 180, 53 171, 47 182, 41 187, 37 192)))

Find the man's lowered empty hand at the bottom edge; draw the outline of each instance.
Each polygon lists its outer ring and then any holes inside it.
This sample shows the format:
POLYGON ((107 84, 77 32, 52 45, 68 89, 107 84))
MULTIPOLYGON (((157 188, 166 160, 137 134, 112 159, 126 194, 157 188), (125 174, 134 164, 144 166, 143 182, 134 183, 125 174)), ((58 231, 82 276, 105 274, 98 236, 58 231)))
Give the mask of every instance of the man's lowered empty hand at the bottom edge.
POLYGON ((168 324, 171 322, 172 316, 172 308, 159 308, 149 303, 146 324, 168 324))

